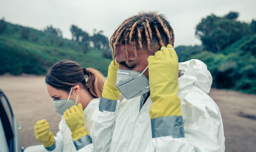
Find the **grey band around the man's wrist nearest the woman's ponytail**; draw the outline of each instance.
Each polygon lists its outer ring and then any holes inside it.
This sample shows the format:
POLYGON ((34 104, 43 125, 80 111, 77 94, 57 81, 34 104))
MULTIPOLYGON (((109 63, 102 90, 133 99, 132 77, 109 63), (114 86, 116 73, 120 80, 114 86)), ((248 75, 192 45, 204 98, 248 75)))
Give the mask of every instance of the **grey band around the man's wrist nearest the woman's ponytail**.
POLYGON ((117 100, 110 100, 102 97, 99 101, 99 111, 115 112, 116 103, 117 103, 117 100))

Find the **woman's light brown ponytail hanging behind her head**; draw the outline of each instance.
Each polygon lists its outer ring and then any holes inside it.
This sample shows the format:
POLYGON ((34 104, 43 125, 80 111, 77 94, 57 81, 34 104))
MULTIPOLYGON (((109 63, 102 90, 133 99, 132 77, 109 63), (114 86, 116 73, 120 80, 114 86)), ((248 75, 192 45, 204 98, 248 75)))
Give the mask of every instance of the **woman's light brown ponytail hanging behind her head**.
POLYGON ((104 76, 93 68, 86 68, 88 80, 86 84, 87 90, 94 96, 101 98, 103 85, 105 82, 104 76))

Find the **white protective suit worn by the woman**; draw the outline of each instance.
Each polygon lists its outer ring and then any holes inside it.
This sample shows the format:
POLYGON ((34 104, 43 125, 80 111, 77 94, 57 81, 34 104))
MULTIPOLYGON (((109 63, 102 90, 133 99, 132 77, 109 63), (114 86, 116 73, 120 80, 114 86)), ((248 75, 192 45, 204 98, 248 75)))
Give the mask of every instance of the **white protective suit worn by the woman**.
MULTIPOLYGON (((99 98, 95 98, 90 101, 86 108, 83 110, 84 114, 84 126, 88 135, 91 135, 91 128, 94 119, 97 117, 99 111, 99 98)), ((77 151, 71 137, 71 131, 69 126, 65 122, 64 116, 61 116, 61 121, 59 122, 59 132, 54 137, 55 148, 51 152, 73 152, 77 151)), ((49 152, 46 148, 42 150, 44 152, 49 152)))

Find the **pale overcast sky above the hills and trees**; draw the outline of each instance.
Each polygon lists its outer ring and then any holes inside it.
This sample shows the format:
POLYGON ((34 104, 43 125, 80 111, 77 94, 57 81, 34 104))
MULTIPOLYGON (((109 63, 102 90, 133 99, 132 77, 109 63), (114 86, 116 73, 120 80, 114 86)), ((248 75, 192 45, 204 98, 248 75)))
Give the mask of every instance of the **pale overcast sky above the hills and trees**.
POLYGON ((200 44, 195 28, 200 20, 214 13, 240 13, 239 20, 256 19, 255 0, 0 0, 0 17, 13 24, 42 30, 47 25, 59 28, 63 37, 71 38, 70 26, 84 31, 103 30, 110 37, 121 22, 140 11, 165 14, 175 33, 175 45, 200 44))

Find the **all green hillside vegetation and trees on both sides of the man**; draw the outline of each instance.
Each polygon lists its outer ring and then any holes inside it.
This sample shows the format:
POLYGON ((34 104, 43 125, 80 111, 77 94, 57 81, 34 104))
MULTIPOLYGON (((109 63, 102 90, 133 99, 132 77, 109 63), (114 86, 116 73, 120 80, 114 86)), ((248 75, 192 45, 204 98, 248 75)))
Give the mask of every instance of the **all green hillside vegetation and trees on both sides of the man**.
MULTIPOLYGON (((212 87, 256 93, 256 21, 238 20, 238 12, 202 18, 196 36, 202 45, 178 46, 179 61, 200 59, 214 78, 212 87)), ((0 20, 0 75, 45 75, 57 61, 69 59, 93 67, 105 76, 112 59, 109 39, 103 31, 93 35, 71 25, 71 39, 58 28, 36 30, 0 20)))

